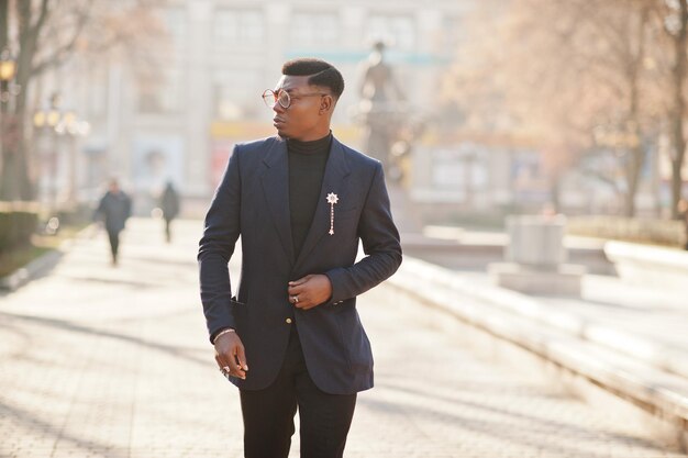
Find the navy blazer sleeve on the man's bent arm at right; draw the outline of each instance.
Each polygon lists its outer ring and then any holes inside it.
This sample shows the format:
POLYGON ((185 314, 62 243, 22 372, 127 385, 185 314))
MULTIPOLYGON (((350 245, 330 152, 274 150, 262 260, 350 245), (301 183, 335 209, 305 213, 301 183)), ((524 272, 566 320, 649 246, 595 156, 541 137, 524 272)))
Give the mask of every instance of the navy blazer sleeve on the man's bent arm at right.
POLYGON ((380 163, 376 163, 370 189, 358 222, 358 234, 366 257, 353 266, 325 272, 332 283, 330 303, 339 303, 366 292, 391 277, 401 265, 399 231, 392 221, 380 163))

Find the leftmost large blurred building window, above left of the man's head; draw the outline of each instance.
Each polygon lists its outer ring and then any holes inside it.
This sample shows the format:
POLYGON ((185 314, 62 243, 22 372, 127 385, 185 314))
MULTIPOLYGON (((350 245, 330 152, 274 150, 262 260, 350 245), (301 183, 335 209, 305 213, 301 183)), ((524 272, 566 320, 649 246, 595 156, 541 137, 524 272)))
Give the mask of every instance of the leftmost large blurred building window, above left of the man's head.
POLYGON ((259 45, 265 35, 263 13, 254 10, 220 10, 213 16, 217 46, 259 45))

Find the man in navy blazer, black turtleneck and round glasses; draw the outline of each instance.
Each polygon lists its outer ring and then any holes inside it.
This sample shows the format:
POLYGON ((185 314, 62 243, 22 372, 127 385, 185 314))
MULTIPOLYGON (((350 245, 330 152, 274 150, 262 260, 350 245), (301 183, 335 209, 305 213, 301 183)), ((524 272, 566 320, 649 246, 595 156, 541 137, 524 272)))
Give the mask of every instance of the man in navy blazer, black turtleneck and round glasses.
POLYGON ((218 366, 240 389, 245 457, 287 457, 297 407, 301 457, 342 457, 356 393, 373 387, 356 297, 397 270, 401 248, 380 164, 330 131, 343 90, 325 62, 286 63, 263 94, 278 136, 234 147, 206 217, 201 299, 218 366))

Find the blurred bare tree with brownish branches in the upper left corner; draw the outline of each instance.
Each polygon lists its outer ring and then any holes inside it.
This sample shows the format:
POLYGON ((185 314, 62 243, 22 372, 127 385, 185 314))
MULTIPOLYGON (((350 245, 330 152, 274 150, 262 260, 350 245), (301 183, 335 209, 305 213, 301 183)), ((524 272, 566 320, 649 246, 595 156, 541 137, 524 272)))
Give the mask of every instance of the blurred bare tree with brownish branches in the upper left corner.
POLYGON ((4 105, 4 123, 0 126, 3 137, 10 129, 19 133, 14 142, 2 145, 0 200, 31 200, 35 193, 22 135, 27 118, 27 89, 35 78, 65 65, 77 53, 99 54, 116 46, 145 49, 141 42, 162 30, 152 12, 164 3, 164 0, 0 0, 0 21, 16 24, 2 26, 0 22, 0 44, 9 45, 16 55, 15 82, 21 88, 13 103, 4 105))

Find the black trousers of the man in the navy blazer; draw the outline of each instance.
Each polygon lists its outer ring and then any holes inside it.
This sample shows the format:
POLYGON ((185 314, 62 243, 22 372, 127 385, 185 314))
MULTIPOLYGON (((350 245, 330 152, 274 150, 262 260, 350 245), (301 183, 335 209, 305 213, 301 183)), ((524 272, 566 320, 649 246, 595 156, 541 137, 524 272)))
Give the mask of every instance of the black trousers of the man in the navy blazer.
POLYGON ((244 457, 287 458, 298 407, 301 458, 341 458, 354 416, 356 393, 329 394, 313 383, 293 326, 287 356, 275 382, 265 390, 241 390, 241 404, 244 457))

